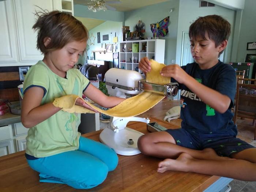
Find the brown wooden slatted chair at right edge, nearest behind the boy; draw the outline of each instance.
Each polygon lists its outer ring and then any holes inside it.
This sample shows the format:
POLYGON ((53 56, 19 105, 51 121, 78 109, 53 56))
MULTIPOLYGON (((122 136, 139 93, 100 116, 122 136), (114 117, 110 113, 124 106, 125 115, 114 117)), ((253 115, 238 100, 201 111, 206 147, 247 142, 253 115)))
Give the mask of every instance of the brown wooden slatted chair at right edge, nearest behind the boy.
MULTIPOLYGON (((233 118, 235 124, 237 117, 256 119, 256 79, 237 79, 236 105, 233 118)), ((256 126, 254 140, 256 140, 256 126)))

